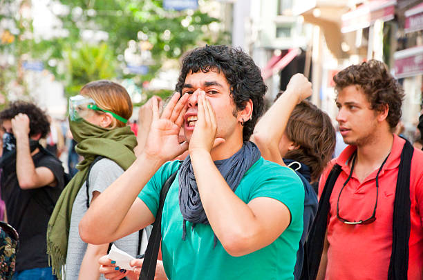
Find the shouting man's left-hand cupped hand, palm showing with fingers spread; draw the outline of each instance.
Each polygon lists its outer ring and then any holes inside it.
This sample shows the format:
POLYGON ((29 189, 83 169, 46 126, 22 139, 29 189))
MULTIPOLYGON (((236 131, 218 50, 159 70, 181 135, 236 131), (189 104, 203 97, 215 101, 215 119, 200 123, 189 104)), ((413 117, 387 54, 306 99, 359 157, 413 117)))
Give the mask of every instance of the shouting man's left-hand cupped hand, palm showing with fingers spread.
POLYGON ((144 153, 160 161, 169 161, 187 150, 188 144, 178 141, 179 130, 187 112, 189 94, 180 97, 176 92, 160 117, 158 99, 153 99, 153 121, 147 137, 144 153))

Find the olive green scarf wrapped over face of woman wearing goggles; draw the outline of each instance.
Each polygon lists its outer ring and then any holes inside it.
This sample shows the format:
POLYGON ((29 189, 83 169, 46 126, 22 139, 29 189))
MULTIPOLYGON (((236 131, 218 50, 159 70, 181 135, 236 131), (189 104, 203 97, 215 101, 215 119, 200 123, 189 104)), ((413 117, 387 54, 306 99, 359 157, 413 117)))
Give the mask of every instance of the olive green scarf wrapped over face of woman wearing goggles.
POLYGON ((84 120, 69 123, 73 138, 78 142, 75 151, 84 157, 84 160, 78 163, 79 172, 64 188, 48 221, 48 260, 53 268, 53 274, 59 279, 62 277, 62 268, 66 262, 73 201, 86 181, 90 164, 97 156, 103 156, 115 161, 126 170, 135 161, 133 148, 137 145, 135 135, 129 126, 107 130, 84 120))

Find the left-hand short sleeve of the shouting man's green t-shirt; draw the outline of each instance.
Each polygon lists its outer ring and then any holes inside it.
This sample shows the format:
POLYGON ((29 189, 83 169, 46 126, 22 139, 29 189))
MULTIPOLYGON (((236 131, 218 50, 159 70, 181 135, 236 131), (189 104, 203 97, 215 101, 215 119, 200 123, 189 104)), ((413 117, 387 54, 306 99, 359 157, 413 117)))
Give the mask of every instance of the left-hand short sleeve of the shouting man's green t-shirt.
POLYGON ((180 161, 168 161, 151 177, 150 181, 142 188, 138 198, 140 198, 149 208, 154 217, 158 210, 160 191, 164 182, 171 176, 173 172, 178 170, 180 161))

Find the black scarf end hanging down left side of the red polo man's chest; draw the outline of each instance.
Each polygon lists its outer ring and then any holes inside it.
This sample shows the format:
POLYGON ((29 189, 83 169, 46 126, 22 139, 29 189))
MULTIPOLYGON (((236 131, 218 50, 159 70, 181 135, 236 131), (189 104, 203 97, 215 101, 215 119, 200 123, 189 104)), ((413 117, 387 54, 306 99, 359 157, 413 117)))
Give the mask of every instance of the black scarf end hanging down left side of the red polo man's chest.
POLYGON ((326 179, 323 192, 319 200, 319 208, 317 208, 316 218, 314 219, 312 228, 308 234, 308 240, 304 246, 304 266, 301 272, 300 279, 316 279, 319 271, 321 254, 325 243, 326 228, 328 226, 328 213, 330 210, 330 195, 333 187, 337 181, 339 174, 341 174, 341 166, 335 164, 326 179))

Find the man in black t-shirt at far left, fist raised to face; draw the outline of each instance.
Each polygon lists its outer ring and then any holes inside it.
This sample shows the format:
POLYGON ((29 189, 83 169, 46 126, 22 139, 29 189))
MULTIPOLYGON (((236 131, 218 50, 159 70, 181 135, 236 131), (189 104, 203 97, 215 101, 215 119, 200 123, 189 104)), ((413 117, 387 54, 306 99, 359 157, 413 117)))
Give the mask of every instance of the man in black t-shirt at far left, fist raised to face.
POLYGON ((16 101, 0 112, 0 124, 1 197, 20 242, 14 279, 55 279, 48 267, 46 230, 64 188, 64 169, 38 143, 48 134, 48 119, 35 104, 16 101))

